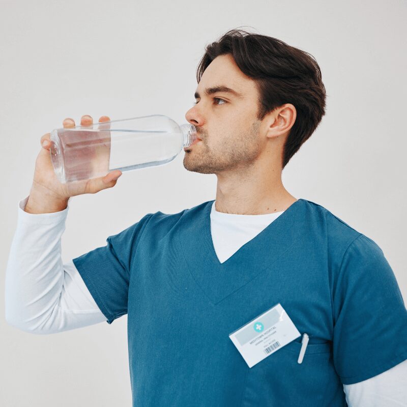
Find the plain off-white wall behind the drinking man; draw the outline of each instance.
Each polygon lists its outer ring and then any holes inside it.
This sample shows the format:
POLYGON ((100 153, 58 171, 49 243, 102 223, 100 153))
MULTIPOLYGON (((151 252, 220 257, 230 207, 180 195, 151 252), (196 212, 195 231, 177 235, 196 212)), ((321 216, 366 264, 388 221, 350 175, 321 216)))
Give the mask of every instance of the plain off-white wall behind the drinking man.
MULTIPOLYGON (((286 189, 319 203, 384 251, 407 298, 405 0, 0 1, 0 290, 40 138, 79 124, 165 114, 185 123, 206 44, 231 28, 311 53, 327 113, 283 171, 286 189)), ((71 198, 64 263, 104 246, 143 215, 215 199, 216 176, 165 166, 124 172, 114 188, 71 198)), ((0 302, 0 404, 130 406, 127 315, 53 335, 6 324, 0 302)))

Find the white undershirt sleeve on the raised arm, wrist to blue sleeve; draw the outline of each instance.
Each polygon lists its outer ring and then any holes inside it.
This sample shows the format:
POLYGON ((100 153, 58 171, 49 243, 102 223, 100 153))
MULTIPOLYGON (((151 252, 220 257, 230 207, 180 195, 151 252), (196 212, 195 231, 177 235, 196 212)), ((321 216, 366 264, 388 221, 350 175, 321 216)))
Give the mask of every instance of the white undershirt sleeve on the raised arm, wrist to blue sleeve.
POLYGON ((18 205, 6 270, 6 321, 25 332, 49 334, 106 321, 72 260, 63 264, 66 209, 31 214, 18 205))

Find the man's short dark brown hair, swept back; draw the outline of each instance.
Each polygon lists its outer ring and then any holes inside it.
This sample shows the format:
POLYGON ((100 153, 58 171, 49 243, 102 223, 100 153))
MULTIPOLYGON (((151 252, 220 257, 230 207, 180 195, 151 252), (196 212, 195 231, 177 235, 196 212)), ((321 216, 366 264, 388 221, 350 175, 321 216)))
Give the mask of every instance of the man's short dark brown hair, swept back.
POLYGON ((325 114, 326 92, 321 69, 308 52, 277 38, 234 29, 206 45, 196 70, 198 83, 208 65, 224 54, 230 54, 239 69, 255 80, 259 92, 258 120, 284 103, 295 106, 296 121, 283 148, 284 168, 325 114))

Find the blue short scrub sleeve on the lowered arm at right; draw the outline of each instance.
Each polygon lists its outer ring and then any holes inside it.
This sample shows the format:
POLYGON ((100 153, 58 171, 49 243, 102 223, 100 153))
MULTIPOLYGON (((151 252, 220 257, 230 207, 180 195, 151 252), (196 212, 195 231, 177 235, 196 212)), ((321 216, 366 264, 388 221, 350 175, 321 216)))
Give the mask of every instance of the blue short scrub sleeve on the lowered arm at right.
POLYGON ((333 358, 342 384, 407 359, 407 310, 382 249, 359 235, 346 249, 333 292, 333 358))

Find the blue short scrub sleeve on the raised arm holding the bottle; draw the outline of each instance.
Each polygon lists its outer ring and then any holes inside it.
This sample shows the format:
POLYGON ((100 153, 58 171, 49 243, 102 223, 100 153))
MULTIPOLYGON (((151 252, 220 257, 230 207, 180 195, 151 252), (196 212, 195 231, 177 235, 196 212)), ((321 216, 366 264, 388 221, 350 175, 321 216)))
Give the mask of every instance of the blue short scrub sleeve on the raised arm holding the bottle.
POLYGON ((137 245, 152 214, 109 236, 107 245, 72 259, 96 304, 111 324, 127 314, 129 281, 137 245))

